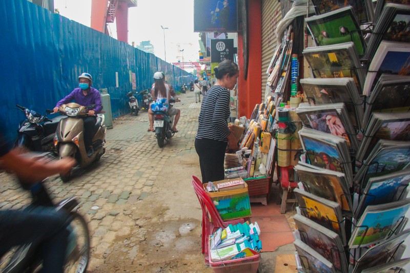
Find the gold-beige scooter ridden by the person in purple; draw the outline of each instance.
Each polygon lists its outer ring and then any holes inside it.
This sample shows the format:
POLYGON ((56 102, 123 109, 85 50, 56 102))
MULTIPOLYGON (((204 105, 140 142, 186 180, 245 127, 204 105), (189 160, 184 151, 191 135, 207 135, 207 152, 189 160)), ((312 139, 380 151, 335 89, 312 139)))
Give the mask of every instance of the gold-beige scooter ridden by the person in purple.
MULTIPOLYGON (((105 153, 104 143, 106 142, 106 125, 103 114, 97 114, 95 123, 96 133, 92 139, 94 153, 89 157, 84 144, 84 120, 82 117, 88 116, 88 109, 91 107, 81 106, 75 102, 63 104, 58 111, 62 115, 68 116, 58 123, 54 137, 54 145, 60 158, 72 157, 80 167, 86 167, 94 161, 98 161, 105 153)), ((60 175, 63 182, 71 178, 71 172, 60 175)))

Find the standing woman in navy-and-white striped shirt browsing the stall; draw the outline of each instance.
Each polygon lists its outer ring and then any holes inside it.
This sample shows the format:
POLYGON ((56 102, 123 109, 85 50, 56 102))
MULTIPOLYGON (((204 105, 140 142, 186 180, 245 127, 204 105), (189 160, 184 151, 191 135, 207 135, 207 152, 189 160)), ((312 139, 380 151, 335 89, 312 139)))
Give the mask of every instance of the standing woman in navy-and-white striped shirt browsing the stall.
POLYGON ((238 150, 238 140, 228 127, 231 113, 229 90, 236 85, 238 65, 224 60, 214 71, 217 81, 203 97, 195 137, 202 183, 224 179, 223 162, 227 146, 230 150, 238 150))

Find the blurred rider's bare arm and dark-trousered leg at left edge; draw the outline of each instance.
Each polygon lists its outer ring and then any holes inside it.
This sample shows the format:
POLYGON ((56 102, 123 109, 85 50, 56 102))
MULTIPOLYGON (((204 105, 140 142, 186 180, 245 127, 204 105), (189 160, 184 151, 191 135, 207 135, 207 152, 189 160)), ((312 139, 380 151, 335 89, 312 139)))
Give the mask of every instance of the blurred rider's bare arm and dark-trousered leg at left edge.
MULTIPOLYGON (((20 182, 28 188, 34 187, 54 174, 65 174, 75 161, 63 158, 52 162, 36 161, 12 150, 12 141, 0 131, 0 167, 16 174, 20 182)), ((0 258, 13 246, 40 241, 43 244, 41 272, 63 273, 68 245, 69 216, 50 207, 33 209, 0 209, 0 258)))

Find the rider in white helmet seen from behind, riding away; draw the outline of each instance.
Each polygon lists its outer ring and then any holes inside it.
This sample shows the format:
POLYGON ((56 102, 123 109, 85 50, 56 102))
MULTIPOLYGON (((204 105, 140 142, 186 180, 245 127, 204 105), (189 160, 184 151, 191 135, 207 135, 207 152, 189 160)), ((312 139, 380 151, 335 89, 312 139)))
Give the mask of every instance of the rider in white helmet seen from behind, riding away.
MULTIPOLYGON (((156 101, 157 98, 166 98, 166 104, 169 104, 171 97, 176 97, 176 94, 172 86, 165 83, 165 74, 163 72, 155 72, 154 80, 155 82, 151 88, 152 100, 156 101)), ((180 100, 175 98, 175 101, 177 102, 180 100)), ((178 130, 176 129, 176 124, 178 123, 179 116, 181 115, 181 110, 170 106, 168 108, 168 114, 170 116, 175 116, 172 131, 177 133, 178 130)), ((151 107, 148 109, 148 117, 150 119, 150 128, 148 129, 148 132, 154 132, 154 112, 152 112, 151 107)))

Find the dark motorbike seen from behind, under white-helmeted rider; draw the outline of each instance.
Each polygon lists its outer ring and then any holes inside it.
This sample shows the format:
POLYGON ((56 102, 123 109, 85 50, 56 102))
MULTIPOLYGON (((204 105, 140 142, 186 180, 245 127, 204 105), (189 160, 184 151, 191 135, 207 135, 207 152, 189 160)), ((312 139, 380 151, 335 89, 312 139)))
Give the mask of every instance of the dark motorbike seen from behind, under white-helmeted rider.
MULTIPOLYGON (((175 99, 171 98, 169 102, 175 102, 175 99)), ((169 106, 171 107, 171 104, 169 104, 169 106)), ((174 116, 170 117, 168 113, 164 111, 154 112, 154 130, 159 148, 163 147, 165 140, 168 142, 171 137, 174 136, 175 133, 172 131, 173 123, 174 116)))

